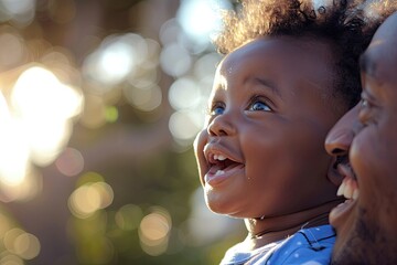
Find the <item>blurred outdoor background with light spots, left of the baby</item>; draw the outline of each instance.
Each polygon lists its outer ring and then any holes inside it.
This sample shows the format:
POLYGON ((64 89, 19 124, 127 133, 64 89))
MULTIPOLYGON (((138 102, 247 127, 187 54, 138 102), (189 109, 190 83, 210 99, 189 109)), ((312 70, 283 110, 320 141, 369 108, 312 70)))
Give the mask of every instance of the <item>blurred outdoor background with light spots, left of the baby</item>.
POLYGON ((232 0, 0 0, 0 265, 217 264, 192 150, 232 0))

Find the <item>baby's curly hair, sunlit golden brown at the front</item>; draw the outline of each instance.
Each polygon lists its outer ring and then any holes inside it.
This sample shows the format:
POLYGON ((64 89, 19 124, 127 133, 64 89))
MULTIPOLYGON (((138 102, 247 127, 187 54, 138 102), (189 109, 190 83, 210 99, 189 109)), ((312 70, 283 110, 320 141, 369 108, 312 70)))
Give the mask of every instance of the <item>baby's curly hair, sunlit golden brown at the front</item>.
POLYGON ((334 45, 333 96, 353 107, 361 95, 360 55, 379 25, 365 25, 360 7, 364 0, 330 0, 315 7, 310 0, 242 0, 236 10, 226 11, 224 28, 214 39, 217 51, 227 54, 259 36, 296 36, 330 41, 334 45))

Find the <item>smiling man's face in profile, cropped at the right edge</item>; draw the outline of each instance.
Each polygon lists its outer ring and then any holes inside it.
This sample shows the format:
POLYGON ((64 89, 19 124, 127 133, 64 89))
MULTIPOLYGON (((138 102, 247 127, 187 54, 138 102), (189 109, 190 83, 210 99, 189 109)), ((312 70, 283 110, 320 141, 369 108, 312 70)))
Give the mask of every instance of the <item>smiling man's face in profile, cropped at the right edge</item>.
POLYGON ((342 161, 339 194, 348 199, 330 215, 333 264, 397 264, 397 14, 378 29, 361 67, 362 102, 325 141, 342 161))

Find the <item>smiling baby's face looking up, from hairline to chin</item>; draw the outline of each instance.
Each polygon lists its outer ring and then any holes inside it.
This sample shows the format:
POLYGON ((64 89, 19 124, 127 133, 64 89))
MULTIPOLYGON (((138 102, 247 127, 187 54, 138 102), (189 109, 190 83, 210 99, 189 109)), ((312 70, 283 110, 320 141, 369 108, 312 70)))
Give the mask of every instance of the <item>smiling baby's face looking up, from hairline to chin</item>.
POLYGON ((276 216, 336 198, 328 179, 330 46, 258 39, 219 64, 195 152, 206 203, 239 218, 276 216))

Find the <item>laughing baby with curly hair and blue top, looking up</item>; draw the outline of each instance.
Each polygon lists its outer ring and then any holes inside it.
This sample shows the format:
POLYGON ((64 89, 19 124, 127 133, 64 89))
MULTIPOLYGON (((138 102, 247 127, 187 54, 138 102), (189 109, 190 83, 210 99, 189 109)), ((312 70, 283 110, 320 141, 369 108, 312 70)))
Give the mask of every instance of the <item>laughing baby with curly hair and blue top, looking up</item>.
MULTIPOLYGON (((216 39, 219 63, 194 147, 208 208, 245 220, 222 264, 329 264, 340 183, 323 142, 360 98, 362 23, 348 2, 244 1, 216 39)), ((357 1, 355 1, 357 2, 357 1)))

